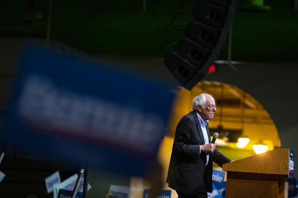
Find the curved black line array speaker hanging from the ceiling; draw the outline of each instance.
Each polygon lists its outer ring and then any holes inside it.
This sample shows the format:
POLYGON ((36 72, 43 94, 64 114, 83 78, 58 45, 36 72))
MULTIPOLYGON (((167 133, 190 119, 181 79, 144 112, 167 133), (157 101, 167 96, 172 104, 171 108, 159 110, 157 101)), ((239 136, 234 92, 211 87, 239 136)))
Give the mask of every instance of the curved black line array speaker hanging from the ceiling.
POLYGON ((184 37, 164 64, 179 83, 191 90, 208 72, 227 38, 237 0, 204 0, 196 3, 184 37))

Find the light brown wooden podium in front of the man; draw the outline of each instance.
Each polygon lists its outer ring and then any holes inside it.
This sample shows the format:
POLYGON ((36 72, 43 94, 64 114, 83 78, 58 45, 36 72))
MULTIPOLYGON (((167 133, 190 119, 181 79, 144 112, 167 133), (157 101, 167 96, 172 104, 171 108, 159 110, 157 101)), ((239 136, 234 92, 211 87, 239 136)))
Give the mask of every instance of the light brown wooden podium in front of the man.
POLYGON ((290 149, 274 149, 223 165, 227 198, 287 198, 290 149))

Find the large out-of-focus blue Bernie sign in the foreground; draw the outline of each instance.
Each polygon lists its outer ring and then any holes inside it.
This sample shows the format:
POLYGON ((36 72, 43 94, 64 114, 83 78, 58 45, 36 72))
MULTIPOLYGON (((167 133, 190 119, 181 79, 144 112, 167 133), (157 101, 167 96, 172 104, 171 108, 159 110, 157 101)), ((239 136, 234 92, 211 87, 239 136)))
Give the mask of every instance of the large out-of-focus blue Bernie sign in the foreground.
POLYGON ((33 45, 18 74, 4 141, 128 174, 156 158, 169 85, 33 45))

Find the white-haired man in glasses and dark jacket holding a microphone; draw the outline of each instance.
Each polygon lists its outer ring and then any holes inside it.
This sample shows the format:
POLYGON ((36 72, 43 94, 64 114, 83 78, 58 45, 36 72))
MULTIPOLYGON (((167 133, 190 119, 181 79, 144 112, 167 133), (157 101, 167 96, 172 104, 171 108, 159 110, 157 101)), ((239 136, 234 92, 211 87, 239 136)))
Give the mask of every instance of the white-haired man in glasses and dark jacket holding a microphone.
POLYGON ((212 192, 212 161, 221 167, 231 161, 210 143, 214 98, 201 93, 193 99, 192 109, 177 125, 167 177, 178 198, 206 198, 212 192))

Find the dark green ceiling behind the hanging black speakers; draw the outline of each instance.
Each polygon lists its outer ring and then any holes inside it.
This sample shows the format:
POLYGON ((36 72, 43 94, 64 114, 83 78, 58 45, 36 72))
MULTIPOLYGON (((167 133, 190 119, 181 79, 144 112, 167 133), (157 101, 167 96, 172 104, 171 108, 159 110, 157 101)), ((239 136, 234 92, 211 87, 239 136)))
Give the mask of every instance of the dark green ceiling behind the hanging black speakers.
MULTIPOLYGON (((181 12, 192 11, 195 3, 187 1, 181 12)), ((150 0, 147 11, 143 11, 142 0, 52 0, 50 39, 94 56, 163 58, 160 44, 179 4, 180 1, 150 0)), ((264 4, 272 9, 237 10, 232 60, 296 62, 298 12, 294 11, 293 0, 271 0, 264 4)), ((27 5, 26 0, 2 2, 0 36, 46 37, 49 1, 35 1, 36 9, 43 15, 37 21, 24 20, 27 5)), ((190 19, 188 13, 177 21, 185 27, 190 19)), ((183 31, 169 28, 165 35, 178 40, 183 31)), ((171 49, 173 44, 165 45, 165 51, 171 49)), ((227 59, 227 51, 226 42, 218 59, 227 59)))

